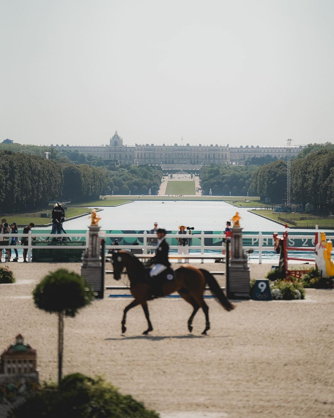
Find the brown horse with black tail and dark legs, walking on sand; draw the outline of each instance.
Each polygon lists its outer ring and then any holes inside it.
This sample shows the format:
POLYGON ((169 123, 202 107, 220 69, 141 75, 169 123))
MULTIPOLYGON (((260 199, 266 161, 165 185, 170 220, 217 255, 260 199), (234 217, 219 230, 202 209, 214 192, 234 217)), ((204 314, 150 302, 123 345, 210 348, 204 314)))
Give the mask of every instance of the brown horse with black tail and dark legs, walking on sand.
MULTIPOLYGON (((147 280, 147 269, 144 268, 144 265, 133 254, 122 250, 114 252, 111 263, 113 263, 114 266, 114 279, 116 280, 121 278, 121 272, 123 268, 126 267, 127 275, 130 279, 130 291, 134 297, 134 301, 124 309, 121 322, 122 333, 126 331, 125 321, 127 311, 140 303, 144 309, 147 324, 149 326, 143 334, 148 334, 149 331, 153 330, 147 308, 147 301, 150 299, 150 295, 152 295, 153 286, 147 280)), ((154 278, 152 280, 154 280, 154 278)), ((180 267, 175 270, 175 280, 163 285, 163 296, 178 292, 180 296, 194 308, 188 320, 189 332, 192 331, 192 320, 199 308, 203 309, 206 319, 205 330, 202 334, 206 334, 210 329, 209 308, 203 299, 205 283, 209 285, 211 292, 216 296, 226 311, 234 309, 235 306, 228 301, 216 279, 207 270, 190 266, 180 267)))

